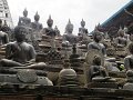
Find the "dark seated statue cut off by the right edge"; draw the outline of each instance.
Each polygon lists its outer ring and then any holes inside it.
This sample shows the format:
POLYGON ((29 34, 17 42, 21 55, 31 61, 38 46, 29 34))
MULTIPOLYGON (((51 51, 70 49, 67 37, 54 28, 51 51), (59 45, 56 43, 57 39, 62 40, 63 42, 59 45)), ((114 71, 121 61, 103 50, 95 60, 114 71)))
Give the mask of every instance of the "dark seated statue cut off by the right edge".
POLYGON ((133 42, 129 44, 130 56, 126 56, 124 59, 124 67, 126 70, 133 70, 133 42))

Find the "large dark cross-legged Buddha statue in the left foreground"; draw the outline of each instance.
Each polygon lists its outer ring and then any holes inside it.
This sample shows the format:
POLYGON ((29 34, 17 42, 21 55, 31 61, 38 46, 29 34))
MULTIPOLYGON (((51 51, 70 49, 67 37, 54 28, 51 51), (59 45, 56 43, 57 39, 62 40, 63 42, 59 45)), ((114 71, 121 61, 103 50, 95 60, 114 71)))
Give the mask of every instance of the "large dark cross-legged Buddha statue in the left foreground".
POLYGON ((44 67, 45 63, 31 64, 35 60, 34 48, 24 42, 25 28, 22 26, 14 28, 14 38, 17 41, 9 42, 6 47, 6 59, 0 61, 2 67, 44 67), (31 64, 31 66, 29 66, 31 64))

